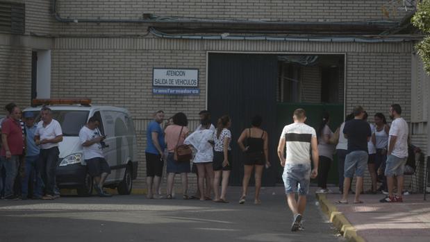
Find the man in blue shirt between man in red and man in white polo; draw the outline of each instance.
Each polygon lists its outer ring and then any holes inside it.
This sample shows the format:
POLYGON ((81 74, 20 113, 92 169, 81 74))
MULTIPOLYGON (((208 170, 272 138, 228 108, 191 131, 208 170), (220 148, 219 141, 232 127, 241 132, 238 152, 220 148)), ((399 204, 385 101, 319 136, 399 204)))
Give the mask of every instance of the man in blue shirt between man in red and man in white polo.
POLYGON ((25 130, 26 130, 26 158, 24 177, 22 178, 21 196, 22 199, 28 197, 28 180, 33 184, 33 194, 31 198, 42 198, 43 181, 40 174, 40 168, 36 165, 39 159, 40 148, 35 144, 34 134, 37 126, 34 124, 33 112, 24 112, 25 130))

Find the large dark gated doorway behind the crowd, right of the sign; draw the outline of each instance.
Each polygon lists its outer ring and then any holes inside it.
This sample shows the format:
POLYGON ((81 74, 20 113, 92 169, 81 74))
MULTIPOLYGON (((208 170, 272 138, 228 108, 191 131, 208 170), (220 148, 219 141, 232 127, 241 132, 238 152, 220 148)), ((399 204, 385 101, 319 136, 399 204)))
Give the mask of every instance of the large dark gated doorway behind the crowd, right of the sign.
MULTIPOLYGON (((306 110, 306 123, 315 130, 322 110, 329 112, 329 126, 336 130, 344 119, 344 63, 343 54, 208 53, 208 110, 214 124, 224 114, 232 119, 231 184, 242 182, 243 157, 237 140, 255 114, 263 116, 262 128, 270 137, 272 166, 263 171, 263 186, 282 183, 276 149, 283 126, 292 123, 296 108, 306 110)), ((338 181, 335 164, 330 183, 338 181)))

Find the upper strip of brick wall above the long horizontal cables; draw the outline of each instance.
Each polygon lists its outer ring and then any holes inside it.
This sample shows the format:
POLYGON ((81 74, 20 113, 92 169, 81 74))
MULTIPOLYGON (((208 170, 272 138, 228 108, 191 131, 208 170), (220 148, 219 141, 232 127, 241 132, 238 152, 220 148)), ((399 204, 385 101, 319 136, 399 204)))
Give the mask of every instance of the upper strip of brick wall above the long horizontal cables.
POLYGON ((342 0, 58 0, 62 17, 138 19, 143 13, 159 16, 267 21, 367 21, 384 19, 382 6, 394 7, 401 19, 404 10, 396 1, 342 0))

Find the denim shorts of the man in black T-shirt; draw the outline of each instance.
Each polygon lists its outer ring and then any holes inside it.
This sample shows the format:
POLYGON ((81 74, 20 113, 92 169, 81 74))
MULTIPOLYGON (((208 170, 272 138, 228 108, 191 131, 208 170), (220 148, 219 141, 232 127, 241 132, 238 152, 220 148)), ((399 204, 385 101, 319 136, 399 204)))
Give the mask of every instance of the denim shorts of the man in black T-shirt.
POLYGON ((356 173, 356 176, 363 178, 368 158, 369 155, 363 150, 355 150, 348 153, 345 157, 343 176, 345 178, 354 178, 354 173, 356 173))

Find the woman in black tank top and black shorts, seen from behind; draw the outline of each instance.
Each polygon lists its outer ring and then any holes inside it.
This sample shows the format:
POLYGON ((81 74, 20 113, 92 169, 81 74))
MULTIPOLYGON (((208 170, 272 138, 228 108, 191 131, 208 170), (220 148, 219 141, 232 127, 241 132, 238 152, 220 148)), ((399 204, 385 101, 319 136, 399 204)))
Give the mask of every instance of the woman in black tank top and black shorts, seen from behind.
POLYGON ((239 203, 245 203, 245 197, 247 196, 249 178, 251 178, 252 170, 255 167, 255 180, 256 180, 256 193, 254 204, 260 204, 260 189, 261 189, 261 175, 263 174, 263 167, 270 166, 269 155, 267 149, 269 146, 269 136, 265 130, 260 128, 261 116, 256 115, 252 118, 251 128, 247 128, 242 131, 238 139, 240 149, 245 154, 243 161, 245 174, 242 180, 242 196, 240 197, 239 203), (244 141, 246 140, 247 146, 245 147, 244 141))

